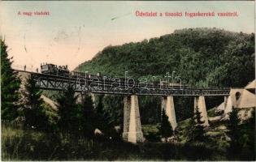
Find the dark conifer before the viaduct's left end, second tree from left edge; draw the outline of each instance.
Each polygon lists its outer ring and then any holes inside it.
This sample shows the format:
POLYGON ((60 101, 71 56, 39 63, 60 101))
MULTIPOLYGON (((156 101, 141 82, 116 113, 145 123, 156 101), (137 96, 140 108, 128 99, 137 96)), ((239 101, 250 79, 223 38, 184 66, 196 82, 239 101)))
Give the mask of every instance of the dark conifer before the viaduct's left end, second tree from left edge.
POLYGON ((48 117, 43 107, 41 90, 36 84, 34 75, 29 75, 26 79, 22 95, 25 126, 37 130, 46 130, 48 128, 48 117))

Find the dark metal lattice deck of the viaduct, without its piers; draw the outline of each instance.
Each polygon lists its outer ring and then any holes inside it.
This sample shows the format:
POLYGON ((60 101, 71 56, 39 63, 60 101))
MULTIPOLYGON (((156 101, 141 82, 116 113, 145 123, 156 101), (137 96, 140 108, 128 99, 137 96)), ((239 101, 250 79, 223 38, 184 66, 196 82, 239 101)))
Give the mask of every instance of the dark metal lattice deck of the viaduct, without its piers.
POLYGON ((18 70, 20 74, 29 73, 37 81, 41 89, 63 91, 72 86, 76 92, 92 92, 113 95, 138 96, 228 96, 230 89, 198 89, 198 88, 172 88, 171 86, 146 85, 142 83, 116 82, 115 79, 86 78, 76 76, 46 75, 41 73, 18 70))

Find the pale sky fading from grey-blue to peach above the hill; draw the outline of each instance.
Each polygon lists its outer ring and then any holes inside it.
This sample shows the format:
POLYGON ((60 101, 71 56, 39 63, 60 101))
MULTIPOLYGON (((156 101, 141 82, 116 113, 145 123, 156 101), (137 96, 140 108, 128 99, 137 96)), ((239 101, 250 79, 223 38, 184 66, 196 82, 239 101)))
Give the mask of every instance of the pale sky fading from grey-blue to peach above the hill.
MULTIPOLYGON (((41 62, 73 70, 107 45, 170 34, 180 28, 223 28, 254 32, 254 1, 224 2, 0 2, 0 31, 14 68, 35 70, 41 62), (49 16, 18 12, 49 11, 49 16), (137 17, 136 11, 233 12, 238 17, 137 17), (117 17, 117 19, 111 20, 117 17)), ((115 58, 113 58, 115 59, 115 58)))

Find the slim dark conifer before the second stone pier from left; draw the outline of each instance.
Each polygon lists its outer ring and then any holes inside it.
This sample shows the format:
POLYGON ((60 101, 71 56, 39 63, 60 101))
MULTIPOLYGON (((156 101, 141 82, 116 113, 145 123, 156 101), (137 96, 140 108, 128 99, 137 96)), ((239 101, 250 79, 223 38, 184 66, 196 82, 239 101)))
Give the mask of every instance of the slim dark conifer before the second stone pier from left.
POLYGON ((161 121, 161 125, 158 128, 159 133, 162 135, 162 137, 165 139, 165 141, 167 142, 167 138, 171 137, 171 135, 173 134, 173 130, 171 128, 171 123, 168 120, 168 116, 165 113, 165 110, 163 109, 162 111, 162 121, 161 121))

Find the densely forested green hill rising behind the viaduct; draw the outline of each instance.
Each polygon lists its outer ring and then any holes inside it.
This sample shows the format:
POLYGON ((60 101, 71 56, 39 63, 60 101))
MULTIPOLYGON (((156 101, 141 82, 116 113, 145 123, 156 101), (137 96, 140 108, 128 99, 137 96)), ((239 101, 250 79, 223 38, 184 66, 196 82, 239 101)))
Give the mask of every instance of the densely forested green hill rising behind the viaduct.
POLYGON ((197 87, 244 87, 254 80, 254 33, 185 28, 137 43, 107 46, 75 70, 141 77, 172 70, 197 87))

